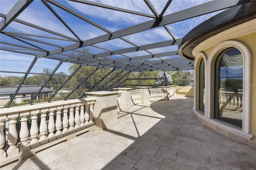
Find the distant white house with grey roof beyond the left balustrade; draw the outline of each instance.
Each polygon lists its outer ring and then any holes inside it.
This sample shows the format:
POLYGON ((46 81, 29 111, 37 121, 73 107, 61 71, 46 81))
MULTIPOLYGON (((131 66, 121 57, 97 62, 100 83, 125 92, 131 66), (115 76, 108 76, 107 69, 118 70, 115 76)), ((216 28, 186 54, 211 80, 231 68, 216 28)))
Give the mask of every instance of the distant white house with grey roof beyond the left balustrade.
MULTIPOLYGON (((0 89, 0 107, 4 107, 4 105, 10 101, 10 98, 14 95, 18 85, 15 87, 7 87, 0 89)), ((18 91, 15 99, 13 100, 15 103, 22 103, 25 100, 31 100, 34 95, 39 91, 40 86, 27 86, 22 85, 20 87, 20 90, 18 91)), ((44 87, 39 95, 36 97, 36 99, 42 99, 43 97, 49 97, 49 95, 52 93, 52 89, 44 87)))

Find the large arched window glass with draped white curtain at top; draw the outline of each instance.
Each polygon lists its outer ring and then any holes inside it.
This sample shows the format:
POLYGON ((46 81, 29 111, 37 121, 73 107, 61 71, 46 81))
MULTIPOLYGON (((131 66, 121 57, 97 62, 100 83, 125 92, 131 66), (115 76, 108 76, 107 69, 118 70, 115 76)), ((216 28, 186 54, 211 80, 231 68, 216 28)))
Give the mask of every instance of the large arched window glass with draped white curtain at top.
POLYGON ((243 56, 235 47, 220 53, 215 63, 214 118, 242 128, 243 56))

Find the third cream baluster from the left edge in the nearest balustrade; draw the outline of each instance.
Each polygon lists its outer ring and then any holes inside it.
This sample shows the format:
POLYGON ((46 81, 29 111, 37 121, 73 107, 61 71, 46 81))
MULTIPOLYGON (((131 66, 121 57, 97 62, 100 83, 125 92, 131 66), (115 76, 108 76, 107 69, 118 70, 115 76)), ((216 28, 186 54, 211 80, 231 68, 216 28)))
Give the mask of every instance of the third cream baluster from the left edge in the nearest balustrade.
POLYGON ((20 149, 21 150, 28 150, 30 149, 30 145, 28 144, 28 118, 27 115, 22 116, 20 119, 20 149), (27 147, 29 146, 29 147, 27 147))

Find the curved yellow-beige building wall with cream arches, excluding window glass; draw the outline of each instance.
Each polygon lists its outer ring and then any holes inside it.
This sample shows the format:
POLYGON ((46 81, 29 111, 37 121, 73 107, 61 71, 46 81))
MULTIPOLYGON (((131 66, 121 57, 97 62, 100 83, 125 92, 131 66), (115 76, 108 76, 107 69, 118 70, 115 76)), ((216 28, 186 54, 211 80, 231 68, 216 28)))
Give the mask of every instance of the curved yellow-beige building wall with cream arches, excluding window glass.
POLYGON ((256 19, 216 34, 194 47, 195 117, 208 127, 244 144, 256 147, 256 19), (226 47, 237 47, 244 58, 243 126, 235 127, 214 119, 214 70, 219 53, 226 47), (205 64, 205 113, 199 111, 199 66, 205 64))

